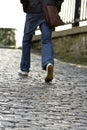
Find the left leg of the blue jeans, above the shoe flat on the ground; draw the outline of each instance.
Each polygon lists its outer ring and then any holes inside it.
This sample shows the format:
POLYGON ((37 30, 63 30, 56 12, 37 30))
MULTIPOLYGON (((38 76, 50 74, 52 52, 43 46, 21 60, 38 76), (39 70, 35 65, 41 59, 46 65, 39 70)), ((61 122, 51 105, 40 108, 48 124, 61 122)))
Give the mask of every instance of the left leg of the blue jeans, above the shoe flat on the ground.
POLYGON ((23 36, 23 42, 22 42, 22 57, 21 57, 21 63, 20 63, 20 70, 22 72, 29 72, 30 68, 30 50, 31 50, 31 40, 32 35, 34 34, 34 31, 37 26, 32 22, 34 17, 32 15, 26 16, 26 22, 25 22, 25 28, 24 28, 24 36, 23 36))

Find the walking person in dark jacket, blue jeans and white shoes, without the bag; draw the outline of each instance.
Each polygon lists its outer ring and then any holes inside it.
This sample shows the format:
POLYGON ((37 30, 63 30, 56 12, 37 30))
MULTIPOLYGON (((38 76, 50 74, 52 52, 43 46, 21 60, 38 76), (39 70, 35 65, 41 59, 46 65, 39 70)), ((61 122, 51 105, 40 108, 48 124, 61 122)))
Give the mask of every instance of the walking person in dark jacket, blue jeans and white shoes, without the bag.
MULTIPOLYGON (((56 3, 57 1, 59 0, 56 0, 56 3)), ((42 41, 42 69, 47 71, 45 81, 50 82, 53 80, 53 68, 54 68, 52 28, 50 28, 46 24, 40 0, 20 0, 20 2, 23 4, 24 12, 26 12, 26 21, 22 42, 22 57, 21 57, 19 75, 28 76, 28 73, 30 71, 30 49, 31 49, 32 36, 37 26, 39 26, 42 41)))

